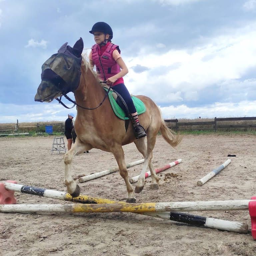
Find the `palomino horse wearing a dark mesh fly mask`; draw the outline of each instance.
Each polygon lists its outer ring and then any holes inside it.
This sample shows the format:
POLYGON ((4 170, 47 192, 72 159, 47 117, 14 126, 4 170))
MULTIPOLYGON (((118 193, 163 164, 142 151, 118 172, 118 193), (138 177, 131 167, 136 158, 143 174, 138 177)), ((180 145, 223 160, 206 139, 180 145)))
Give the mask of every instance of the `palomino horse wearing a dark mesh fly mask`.
POLYGON ((145 106, 146 112, 139 115, 139 122, 147 132, 147 146, 144 137, 135 139, 132 124, 125 129, 124 120, 119 119, 113 112, 108 99, 104 100, 106 91, 102 88, 97 75, 92 71, 88 62, 81 57, 83 41, 80 38, 72 47, 64 44, 57 54, 52 55, 42 66, 42 82, 40 83, 35 101, 50 102, 54 98, 74 92, 77 104, 75 131, 77 138, 72 148, 64 155, 65 178, 67 191, 73 197, 80 194, 79 186, 71 176, 71 162, 75 155, 92 148, 113 153, 119 166, 120 175, 127 188, 126 202, 136 202, 135 193, 142 191, 145 172, 149 167, 151 172, 151 188, 157 189, 159 178, 152 164, 152 151, 156 136, 160 130, 163 138, 175 147, 181 141, 181 136, 169 130, 165 124, 160 109, 146 96, 137 96, 145 106), (103 101, 102 104, 100 104, 103 101), (100 106, 99 106, 100 105, 100 106), (98 108, 96 108, 99 106, 98 108), (88 109, 88 108, 94 108, 88 109), (122 145, 134 142, 145 159, 139 180, 133 190, 129 182, 122 145))

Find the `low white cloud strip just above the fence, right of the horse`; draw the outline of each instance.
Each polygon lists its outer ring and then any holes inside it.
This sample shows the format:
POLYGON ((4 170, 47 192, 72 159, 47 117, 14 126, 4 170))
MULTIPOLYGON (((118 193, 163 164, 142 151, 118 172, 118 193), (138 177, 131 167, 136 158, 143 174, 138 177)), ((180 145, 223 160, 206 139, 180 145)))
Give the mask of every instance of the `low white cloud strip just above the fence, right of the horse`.
POLYGON ((213 118, 213 117, 244 117, 255 116, 256 101, 239 103, 214 103, 200 107, 186 105, 160 107, 164 118, 213 118))

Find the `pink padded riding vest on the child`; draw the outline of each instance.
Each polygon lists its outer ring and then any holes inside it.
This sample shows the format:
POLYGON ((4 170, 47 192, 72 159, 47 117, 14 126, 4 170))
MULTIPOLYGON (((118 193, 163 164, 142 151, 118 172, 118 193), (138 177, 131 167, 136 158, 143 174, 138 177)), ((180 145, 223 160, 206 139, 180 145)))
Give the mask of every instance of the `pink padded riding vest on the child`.
POLYGON ((120 53, 119 46, 110 43, 107 49, 99 56, 100 46, 95 44, 92 46, 92 60, 96 66, 100 79, 106 81, 111 76, 120 72, 120 67, 112 57, 112 52, 117 49, 120 53))

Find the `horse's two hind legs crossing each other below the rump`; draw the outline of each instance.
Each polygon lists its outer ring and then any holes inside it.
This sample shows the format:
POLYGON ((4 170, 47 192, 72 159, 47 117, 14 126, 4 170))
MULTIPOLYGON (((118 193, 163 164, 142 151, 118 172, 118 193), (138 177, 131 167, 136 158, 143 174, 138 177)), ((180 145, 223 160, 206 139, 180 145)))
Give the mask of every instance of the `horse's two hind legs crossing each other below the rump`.
POLYGON ((141 171, 141 174, 139 176, 137 185, 135 187, 135 193, 140 193, 143 190, 144 187, 144 181, 145 181, 145 172, 147 170, 147 167, 149 167, 150 173, 151 173, 151 189, 157 189, 158 188, 158 182, 159 182, 159 178, 156 175, 155 169, 153 167, 152 164, 152 151, 154 149, 155 143, 156 143, 156 134, 151 134, 150 131, 147 131, 147 149, 145 146, 145 143, 143 141, 144 144, 144 148, 143 148, 143 144, 138 140, 135 142, 137 149, 143 154, 143 152, 146 151, 146 154, 144 156, 145 158, 145 163, 143 166, 143 169, 141 171))

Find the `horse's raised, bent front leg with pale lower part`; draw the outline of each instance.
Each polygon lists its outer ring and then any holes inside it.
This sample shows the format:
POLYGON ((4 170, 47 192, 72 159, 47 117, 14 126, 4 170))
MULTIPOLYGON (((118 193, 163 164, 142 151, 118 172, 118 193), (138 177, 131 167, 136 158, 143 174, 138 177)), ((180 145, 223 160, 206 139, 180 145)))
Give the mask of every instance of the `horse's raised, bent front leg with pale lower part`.
POLYGON ((73 157, 79 153, 83 153, 90 149, 92 149, 90 145, 84 144, 77 137, 73 147, 64 155, 64 163, 65 163, 64 184, 67 186, 67 191, 72 197, 77 197, 80 194, 80 187, 76 184, 76 182, 72 179, 72 176, 71 176, 71 163, 72 163, 73 157))

